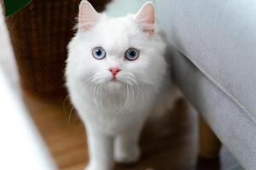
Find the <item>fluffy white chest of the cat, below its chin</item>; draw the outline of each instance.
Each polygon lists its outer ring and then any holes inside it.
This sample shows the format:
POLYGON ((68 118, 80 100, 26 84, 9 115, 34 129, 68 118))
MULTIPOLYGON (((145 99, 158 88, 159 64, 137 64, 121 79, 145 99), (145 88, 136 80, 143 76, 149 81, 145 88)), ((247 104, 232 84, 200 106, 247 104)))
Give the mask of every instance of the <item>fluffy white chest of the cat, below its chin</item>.
POLYGON ((108 133, 118 133, 115 131, 122 131, 144 120, 154 102, 153 90, 145 88, 140 92, 123 91, 119 95, 73 89, 73 104, 79 116, 84 122, 108 133))

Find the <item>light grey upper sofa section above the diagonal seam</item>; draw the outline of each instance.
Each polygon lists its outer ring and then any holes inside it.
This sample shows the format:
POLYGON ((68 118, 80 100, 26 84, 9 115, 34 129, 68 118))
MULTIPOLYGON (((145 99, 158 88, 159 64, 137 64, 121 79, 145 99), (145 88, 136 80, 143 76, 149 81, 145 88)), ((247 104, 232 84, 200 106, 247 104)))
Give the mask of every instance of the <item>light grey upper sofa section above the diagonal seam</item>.
POLYGON ((256 124, 256 1, 157 0, 160 26, 256 124))

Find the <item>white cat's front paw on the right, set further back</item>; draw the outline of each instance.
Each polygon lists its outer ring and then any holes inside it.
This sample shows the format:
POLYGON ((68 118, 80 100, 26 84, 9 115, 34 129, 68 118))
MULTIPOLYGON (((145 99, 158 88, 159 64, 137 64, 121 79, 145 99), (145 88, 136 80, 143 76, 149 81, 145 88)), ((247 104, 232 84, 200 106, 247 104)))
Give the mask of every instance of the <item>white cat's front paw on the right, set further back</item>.
POLYGON ((134 163, 139 160, 140 156, 141 150, 138 146, 114 150, 114 161, 118 163, 134 163))

